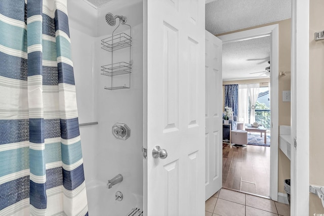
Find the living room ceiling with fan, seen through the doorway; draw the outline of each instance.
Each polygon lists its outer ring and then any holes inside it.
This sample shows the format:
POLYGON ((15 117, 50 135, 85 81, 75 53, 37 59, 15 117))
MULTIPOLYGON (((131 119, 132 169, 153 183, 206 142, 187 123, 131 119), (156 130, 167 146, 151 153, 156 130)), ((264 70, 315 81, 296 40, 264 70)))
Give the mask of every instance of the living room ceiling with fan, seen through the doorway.
POLYGON ((268 78, 270 36, 223 44, 223 81, 268 78))

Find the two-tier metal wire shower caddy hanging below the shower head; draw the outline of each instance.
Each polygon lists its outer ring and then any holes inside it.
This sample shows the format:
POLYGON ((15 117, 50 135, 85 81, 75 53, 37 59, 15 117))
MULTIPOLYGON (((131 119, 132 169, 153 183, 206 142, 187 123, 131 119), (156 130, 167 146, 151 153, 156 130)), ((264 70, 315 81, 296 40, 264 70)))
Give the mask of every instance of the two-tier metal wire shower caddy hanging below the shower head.
MULTIPOLYGON (((119 23, 120 24, 120 23, 119 23)), ((127 25, 127 24, 125 24, 127 25)), ((132 32, 132 28, 130 25, 130 35, 132 32)), ((119 25, 117 26, 117 28, 119 25)), ((115 30, 117 29, 115 28, 115 30)), ((115 31, 114 30, 114 31, 115 31)), ((113 32, 114 32, 113 31, 113 32)), ((119 33, 119 34, 113 34, 112 36, 104 38, 101 40, 101 45, 102 49, 111 52, 111 64, 109 65, 104 65, 101 66, 101 75, 109 76, 111 77, 111 85, 110 87, 106 87, 105 89, 108 90, 116 90, 116 89, 128 89, 131 87, 131 69, 132 69, 132 64, 127 63, 127 62, 113 62, 113 52, 119 49, 127 48, 129 47, 129 62, 131 62, 131 46, 132 46, 132 37, 124 32, 119 33), (124 84, 123 86, 113 86, 113 76, 119 76, 119 75, 129 75, 129 81, 128 85, 124 84)))

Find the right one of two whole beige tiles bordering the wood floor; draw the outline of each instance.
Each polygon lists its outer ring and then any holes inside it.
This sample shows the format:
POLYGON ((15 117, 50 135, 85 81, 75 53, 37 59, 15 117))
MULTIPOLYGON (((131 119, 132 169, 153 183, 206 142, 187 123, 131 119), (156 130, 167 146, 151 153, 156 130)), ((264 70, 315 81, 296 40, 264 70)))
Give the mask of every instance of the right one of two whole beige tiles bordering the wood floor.
POLYGON ((278 213, 274 201, 271 199, 246 194, 246 205, 261 210, 270 211, 275 214, 278 213))

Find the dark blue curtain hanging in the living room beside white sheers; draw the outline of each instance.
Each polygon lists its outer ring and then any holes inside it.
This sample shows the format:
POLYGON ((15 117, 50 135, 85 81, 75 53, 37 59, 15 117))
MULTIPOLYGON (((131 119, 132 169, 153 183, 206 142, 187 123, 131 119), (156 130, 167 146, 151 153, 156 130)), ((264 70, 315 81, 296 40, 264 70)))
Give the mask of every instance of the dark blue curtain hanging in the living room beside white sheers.
MULTIPOLYGON (((232 107, 233 116, 238 114, 238 84, 224 85, 225 87, 225 106, 232 107)), ((224 108, 225 110, 225 108, 224 108)))

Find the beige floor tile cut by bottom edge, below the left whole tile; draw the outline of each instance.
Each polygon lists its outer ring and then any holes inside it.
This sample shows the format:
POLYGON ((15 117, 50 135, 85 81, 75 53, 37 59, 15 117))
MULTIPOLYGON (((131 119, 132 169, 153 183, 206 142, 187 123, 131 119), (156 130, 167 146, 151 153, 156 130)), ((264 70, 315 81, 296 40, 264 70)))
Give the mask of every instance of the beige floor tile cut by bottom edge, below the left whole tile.
POLYGON ((222 216, 245 215, 245 205, 230 202, 224 199, 218 199, 214 213, 222 216))

